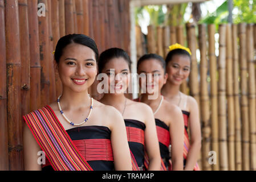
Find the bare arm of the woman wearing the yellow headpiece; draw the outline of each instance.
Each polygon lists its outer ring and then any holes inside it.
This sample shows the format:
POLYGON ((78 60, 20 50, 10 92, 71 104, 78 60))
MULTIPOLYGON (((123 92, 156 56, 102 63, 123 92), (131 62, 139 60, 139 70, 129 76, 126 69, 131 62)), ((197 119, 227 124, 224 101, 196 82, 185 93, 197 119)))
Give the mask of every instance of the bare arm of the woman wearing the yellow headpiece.
POLYGON ((190 148, 186 158, 186 171, 193 170, 201 150, 201 125, 199 117, 199 108, 197 101, 193 97, 188 97, 189 104, 189 130, 190 130, 190 148))

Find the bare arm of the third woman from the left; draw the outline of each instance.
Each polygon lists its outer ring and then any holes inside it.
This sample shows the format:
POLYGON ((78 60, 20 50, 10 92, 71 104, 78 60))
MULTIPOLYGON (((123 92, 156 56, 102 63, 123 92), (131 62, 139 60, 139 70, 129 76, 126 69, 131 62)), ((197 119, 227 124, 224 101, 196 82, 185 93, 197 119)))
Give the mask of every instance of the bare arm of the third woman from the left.
POLYGON ((184 121, 178 106, 169 107, 172 116, 169 126, 170 143, 172 144, 172 170, 183 171, 184 121))

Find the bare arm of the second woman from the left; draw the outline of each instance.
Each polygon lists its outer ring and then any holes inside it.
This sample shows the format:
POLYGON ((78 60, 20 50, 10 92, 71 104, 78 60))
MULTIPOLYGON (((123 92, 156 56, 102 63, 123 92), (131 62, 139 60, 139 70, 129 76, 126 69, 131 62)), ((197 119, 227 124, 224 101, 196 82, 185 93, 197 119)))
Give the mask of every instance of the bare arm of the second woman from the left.
POLYGON ((149 158, 148 171, 159 171, 161 167, 161 155, 154 114, 148 105, 145 105, 144 113, 146 116, 145 145, 149 158))

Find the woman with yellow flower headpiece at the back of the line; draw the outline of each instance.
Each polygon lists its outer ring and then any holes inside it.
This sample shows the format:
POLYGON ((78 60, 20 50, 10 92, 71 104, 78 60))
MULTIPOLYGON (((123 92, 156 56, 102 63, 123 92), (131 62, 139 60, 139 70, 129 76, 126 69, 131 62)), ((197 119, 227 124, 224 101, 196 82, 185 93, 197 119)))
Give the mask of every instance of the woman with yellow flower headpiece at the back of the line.
POLYGON ((201 126, 198 104, 193 97, 180 92, 180 85, 190 73, 191 52, 180 44, 169 48, 165 59, 168 78, 161 93, 166 100, 180 107, 184 116, 184 170, 199 170, 197 159, 201 150, 201 126))

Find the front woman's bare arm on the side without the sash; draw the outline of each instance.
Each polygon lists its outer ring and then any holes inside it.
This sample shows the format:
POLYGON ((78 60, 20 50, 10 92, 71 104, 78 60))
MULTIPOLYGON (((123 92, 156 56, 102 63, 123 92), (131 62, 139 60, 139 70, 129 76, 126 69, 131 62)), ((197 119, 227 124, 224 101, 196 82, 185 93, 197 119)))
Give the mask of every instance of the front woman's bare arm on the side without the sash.
POLYGON ((111 114, 111 144, 114 157, 114 165, 116 171, 132 170, 131 153, 127 140, 124 119, 122 115, 114 107, 109 109, 111 114))

